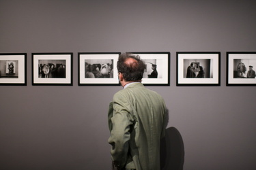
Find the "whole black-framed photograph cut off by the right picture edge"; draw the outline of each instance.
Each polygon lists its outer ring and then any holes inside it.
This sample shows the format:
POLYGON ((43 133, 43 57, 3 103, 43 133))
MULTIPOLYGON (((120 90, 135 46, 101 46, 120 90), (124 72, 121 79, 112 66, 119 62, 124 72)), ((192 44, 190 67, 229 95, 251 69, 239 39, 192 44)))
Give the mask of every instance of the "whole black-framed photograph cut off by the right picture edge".
POLYGON ((255 86, 256 52, 227 52, 227 86, 255 86))

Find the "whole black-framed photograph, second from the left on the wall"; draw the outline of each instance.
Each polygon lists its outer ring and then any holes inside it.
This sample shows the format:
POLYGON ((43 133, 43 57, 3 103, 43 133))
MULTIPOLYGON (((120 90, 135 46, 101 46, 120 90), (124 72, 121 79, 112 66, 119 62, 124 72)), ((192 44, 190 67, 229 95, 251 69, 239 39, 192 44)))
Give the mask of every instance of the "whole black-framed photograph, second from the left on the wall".
POLYGON ((32 85, 72 86, 72 53, 32 53, 32 85))

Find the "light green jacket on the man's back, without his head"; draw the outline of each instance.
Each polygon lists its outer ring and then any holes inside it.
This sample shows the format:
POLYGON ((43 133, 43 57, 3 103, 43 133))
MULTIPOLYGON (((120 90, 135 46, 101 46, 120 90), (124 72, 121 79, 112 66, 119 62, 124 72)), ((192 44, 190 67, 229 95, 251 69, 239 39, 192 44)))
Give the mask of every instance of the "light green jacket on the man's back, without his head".
POLYGON ((165 135, 165 101, 141 83, 113 97, 112 158, 127 169, 160 169, 160 138, 165 135))

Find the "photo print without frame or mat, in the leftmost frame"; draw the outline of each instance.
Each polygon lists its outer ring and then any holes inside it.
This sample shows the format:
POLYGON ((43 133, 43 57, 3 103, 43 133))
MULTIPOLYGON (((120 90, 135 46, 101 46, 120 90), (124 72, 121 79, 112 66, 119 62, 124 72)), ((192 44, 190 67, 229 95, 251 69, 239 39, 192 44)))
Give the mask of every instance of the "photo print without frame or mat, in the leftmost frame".
POLYGON ((0 61, 0 78, 18 78, 18 61, 0 61))

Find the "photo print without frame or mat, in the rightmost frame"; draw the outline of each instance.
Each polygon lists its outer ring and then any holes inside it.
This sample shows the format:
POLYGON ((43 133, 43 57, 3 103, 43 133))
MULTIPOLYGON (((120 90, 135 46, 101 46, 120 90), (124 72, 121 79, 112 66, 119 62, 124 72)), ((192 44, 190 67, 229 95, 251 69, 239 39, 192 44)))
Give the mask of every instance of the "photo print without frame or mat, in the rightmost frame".
POLYGON ((253 59, 234 59, 233 60, 233 78, 255 78, 253 65, 256 60, 253 59))

